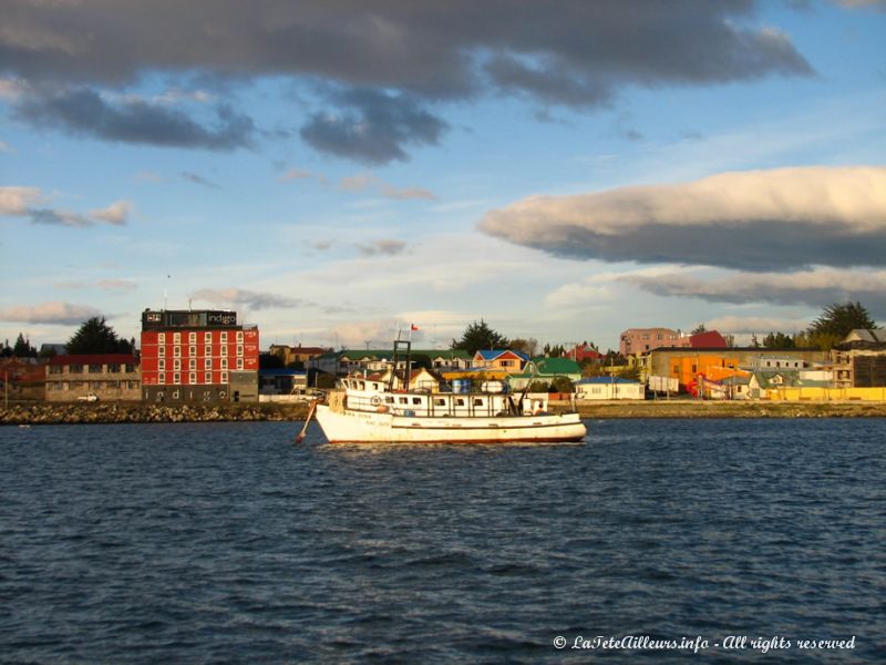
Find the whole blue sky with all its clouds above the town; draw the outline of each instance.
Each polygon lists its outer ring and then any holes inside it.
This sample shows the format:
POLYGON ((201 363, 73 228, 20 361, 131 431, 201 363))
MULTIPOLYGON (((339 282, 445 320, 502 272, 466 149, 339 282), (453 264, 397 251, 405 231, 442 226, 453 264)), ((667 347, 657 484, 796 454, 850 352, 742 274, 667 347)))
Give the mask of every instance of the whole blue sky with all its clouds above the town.
POLYGON ((4 0, 0 340, 886 323, 886 2, 4 0))

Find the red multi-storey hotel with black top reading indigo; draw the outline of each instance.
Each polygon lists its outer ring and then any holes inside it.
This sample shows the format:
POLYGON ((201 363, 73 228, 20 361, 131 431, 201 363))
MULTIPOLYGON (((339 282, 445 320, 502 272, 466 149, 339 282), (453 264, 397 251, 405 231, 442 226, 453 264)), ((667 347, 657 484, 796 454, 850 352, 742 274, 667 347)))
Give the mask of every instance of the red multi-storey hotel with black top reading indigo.
POLYGON ((258 328, 238 326, 236 311, 145 309, 142 398, 258 401, 258 328))

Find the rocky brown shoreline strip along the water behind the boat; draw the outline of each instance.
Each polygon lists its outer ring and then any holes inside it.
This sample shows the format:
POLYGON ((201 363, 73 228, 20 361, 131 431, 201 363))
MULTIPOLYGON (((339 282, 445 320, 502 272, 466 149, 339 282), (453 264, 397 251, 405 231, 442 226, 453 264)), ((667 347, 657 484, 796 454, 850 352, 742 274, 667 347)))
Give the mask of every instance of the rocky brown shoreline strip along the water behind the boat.
MULTIPOLYGON (((568 402, 552 402, 564 411, 568 402)), ((579 402, 583 419, 645 418, 886 418, 886 402, 647 400, 579 402)), ((136 422, 299 422, 305 403, 156 406, 143 402, 33 403, 0 408, 0 426, 136 422)))

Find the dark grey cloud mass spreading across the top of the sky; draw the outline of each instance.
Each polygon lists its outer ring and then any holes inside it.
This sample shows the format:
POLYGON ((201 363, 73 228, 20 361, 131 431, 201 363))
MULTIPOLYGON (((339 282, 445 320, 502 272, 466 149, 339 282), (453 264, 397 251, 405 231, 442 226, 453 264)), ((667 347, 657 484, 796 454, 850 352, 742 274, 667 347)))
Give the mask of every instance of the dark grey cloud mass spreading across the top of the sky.
POLYGON ((41 91, 19 102, 24 122, 210 150, 248 145, 251 120, 219 104, 215 123, 197 122, 169 108, 193 99, 181 89, 117 102, 96 90, 152 74, 319 82, 326 108, 309 114, 303 140, 380 164, 437 143, 447 125, 426 106, 440 101, 505 94, 587 109, 626 86, 814 73, 786 34, 755 19, 751 0, 7 0, 0 71, 41 91))

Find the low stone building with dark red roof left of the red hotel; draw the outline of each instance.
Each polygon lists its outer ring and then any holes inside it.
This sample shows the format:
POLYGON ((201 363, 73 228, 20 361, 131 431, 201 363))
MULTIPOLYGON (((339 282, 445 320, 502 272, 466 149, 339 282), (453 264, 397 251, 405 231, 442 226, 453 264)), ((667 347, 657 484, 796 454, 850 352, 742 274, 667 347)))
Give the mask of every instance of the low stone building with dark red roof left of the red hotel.
POLYGON ((138 400, 140 369, 130 354, 55 356, 45 366, 47 401, 76 401, 90 393, 103 401, 138 400))

